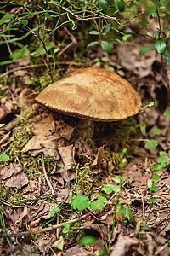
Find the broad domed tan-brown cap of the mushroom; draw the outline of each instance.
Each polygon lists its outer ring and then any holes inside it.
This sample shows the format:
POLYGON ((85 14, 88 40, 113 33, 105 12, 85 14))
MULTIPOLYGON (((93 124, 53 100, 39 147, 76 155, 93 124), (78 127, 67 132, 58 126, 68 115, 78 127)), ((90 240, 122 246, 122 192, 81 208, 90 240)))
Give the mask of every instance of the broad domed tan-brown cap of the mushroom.
POLYGON ((139 95, 127 80, 94 67, 48 85, 36 100, 59 113, 103 122, 127 119, 141 107, 139 95))

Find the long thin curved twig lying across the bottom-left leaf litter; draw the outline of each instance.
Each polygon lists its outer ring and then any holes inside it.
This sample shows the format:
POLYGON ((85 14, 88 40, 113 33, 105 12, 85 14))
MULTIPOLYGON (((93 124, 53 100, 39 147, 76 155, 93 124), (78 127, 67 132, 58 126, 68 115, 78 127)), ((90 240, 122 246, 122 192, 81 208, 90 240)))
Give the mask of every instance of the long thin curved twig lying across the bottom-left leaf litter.
MULTIPOLYGON (((71 224, 71 223, 75 223, 83 218, 88 218, 88 215, 89 214, 85 214, 83 215, 82 217, 80 218, 75 218, 75 219, 71 219, 69 221, 66 221, 67 223, 71 224)), ((64 226, 65 223, 61 223, 61 224, 56 224, 56 225, 53 225, 53 226, 50 226, 48 228, 44 228, 44 229, 39 229, 39 230, 30 230, 30 231, 26 231, 26 232, 18 232, 16 234, 14 233, 0 233, 0 237, 21 237, 21 236, 33 236, 33 235, 37 235, 37 234, 40 234, 40 233, 43 233, 43 232, 47 232, 47 231, 51 231, 51 230, 56 230, 56 229, 59 229, 61 227, 64 226)))

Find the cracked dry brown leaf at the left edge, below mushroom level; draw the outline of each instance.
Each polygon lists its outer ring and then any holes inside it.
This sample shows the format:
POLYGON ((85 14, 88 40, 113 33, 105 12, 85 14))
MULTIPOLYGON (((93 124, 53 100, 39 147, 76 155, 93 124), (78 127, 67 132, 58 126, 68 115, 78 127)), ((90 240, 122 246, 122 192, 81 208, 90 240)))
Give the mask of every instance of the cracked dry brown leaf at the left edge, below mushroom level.
POLYGON ((22 168, 16 167, 13 164, 10 164, 10 166, 3 168, 2 180, 3 183, 5 183, 5 186, 17 189, 21 189, 28 183, 28 178, 26 177, 26 174, 22 171, 22 168))

